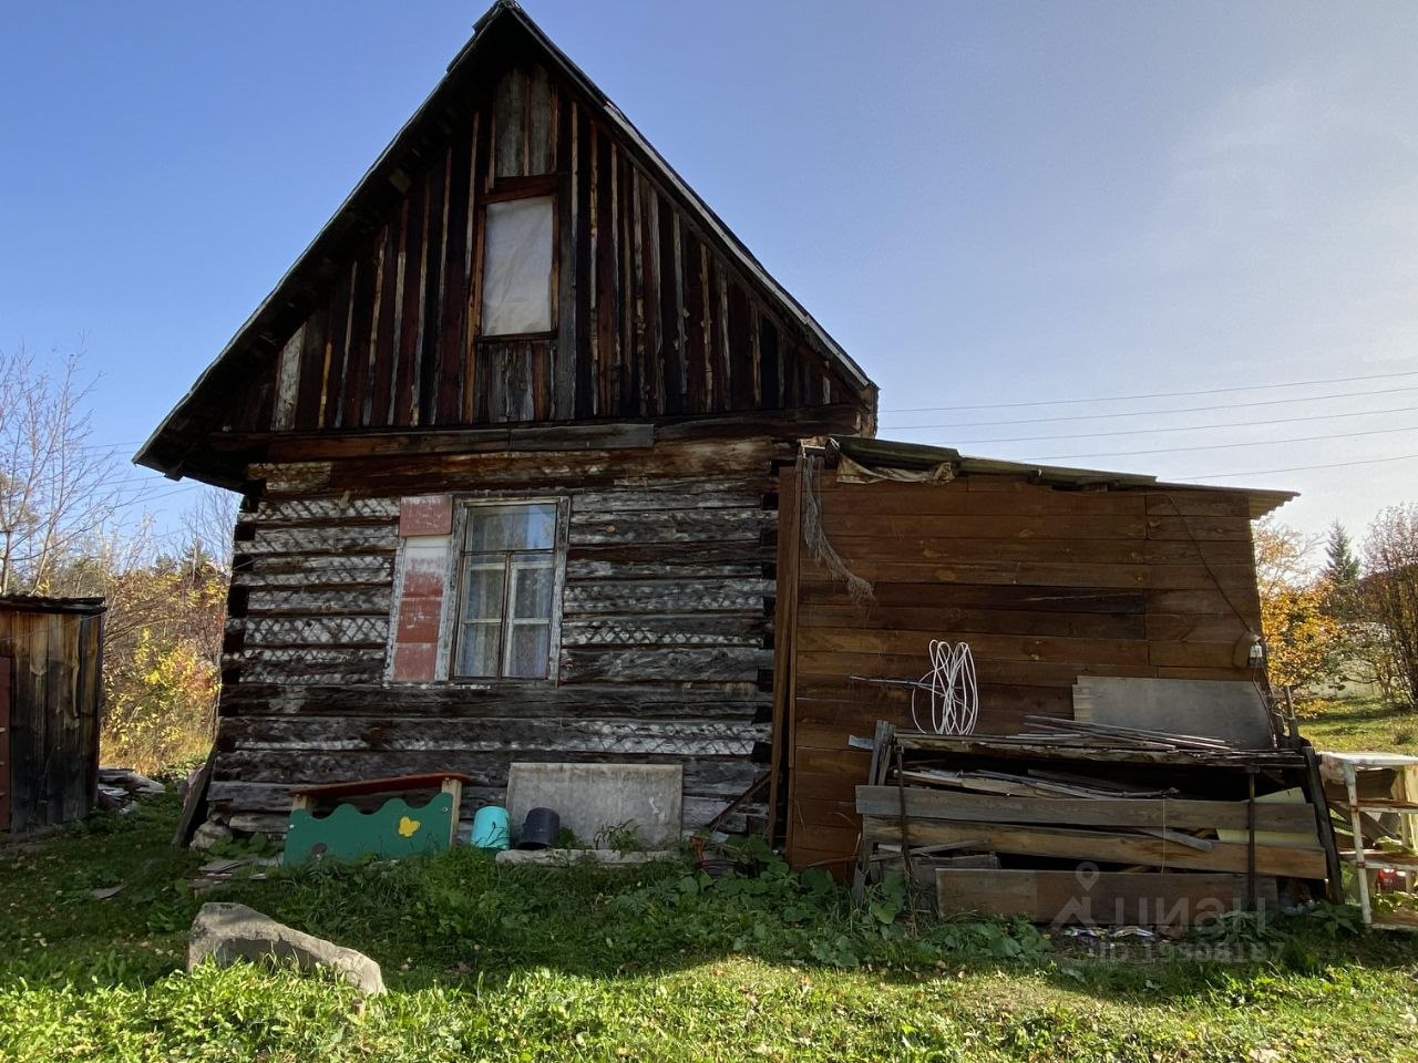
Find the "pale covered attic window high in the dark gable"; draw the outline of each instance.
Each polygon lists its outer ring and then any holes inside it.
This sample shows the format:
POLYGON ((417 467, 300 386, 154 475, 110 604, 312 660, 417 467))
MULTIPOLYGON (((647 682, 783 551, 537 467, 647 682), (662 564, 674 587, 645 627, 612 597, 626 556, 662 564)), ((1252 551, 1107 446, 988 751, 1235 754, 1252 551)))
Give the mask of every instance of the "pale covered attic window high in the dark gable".
POLYGON ((552 196, 486 206, 482 261, 482 334, 552 330, 552 196))

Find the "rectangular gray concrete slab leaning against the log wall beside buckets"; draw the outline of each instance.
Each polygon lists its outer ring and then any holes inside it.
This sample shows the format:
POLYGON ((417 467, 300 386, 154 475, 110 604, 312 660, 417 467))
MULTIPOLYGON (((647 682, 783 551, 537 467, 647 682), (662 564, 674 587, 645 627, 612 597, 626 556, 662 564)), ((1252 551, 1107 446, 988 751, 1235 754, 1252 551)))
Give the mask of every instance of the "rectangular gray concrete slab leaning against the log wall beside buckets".
POLYGON ((683 770, 678 764, 513 764, 508 772, 508 814, 513 832, 527 811, 550 808, 583 842, 634 823, 641 845, 664 849, 679 842, 683 770))

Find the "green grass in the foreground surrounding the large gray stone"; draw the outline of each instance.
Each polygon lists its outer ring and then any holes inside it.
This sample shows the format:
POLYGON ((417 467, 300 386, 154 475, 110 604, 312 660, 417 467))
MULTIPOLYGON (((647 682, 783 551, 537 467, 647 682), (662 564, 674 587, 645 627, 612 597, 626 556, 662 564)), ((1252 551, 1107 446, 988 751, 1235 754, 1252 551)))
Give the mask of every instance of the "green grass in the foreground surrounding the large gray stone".
POLYGON ((1089 957, 997 921, 854 913, 769 863, 533 872, 474 850, 225 890, 360 948, 390 994, 240 967, 182 972, 200 857, 173 799, 0 849, 4 1060, 1411 1060, 1418 935, 1347 910, 1197 947, 1089 957), (92 890, 122 884, 109 900, 92 890))

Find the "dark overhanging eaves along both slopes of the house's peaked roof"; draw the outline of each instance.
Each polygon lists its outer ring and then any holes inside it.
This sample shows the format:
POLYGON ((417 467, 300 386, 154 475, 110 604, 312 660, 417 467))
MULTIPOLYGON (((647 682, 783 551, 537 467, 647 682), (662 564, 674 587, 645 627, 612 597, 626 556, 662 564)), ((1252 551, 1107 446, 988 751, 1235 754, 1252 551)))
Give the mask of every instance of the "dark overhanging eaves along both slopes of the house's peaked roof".
POLYGON ((389 146, 379 154, 374 163, 364 171, 354 189, 345 197, 329 221, 320 227, 315 238, 306 245, 289 269, 281 276, 275 288, 247 317, 221 353, 203 370, 196 383, 177 401, 173 410, 163 418, 157 428, 147 437, 138 454, 133 456, 135 465, 156 469, 172 479, 193 476, 207 483, 223 488, 234 488, 240 476, 233 469, 196 468, 190 463, 190 456, 206 444, 206 429, 199 424, 203 420, 204 407, 201 398, 208 388, 220 384, 227 376, 237 378, 251 367, 251 363, 265 366, 269 357, 278 350, 277 339, 282 329, 278 320, 282 313, 301 306, 313 291, 313 276, 319 269, 322 252, 333 252, 335 245, 343 240, 347 231, 359 225, 366 211, 360 207, 377 197, 386 189, 398 189, 400 180, 407 180, 401 163, 415 153, 418 142, 423 139, 425 128, 438 118, 441 109, 457 92, 458 85, 472 71, 472 62, 481 55, 488 41, 495 40, 495 30, 503 24, 520 27, 527 37, 537 44, 546 57, 560 69, 563 77, 581 92, 594 106, 597 106, 617 132, 620 132, 631 147, 644 157, 644 162, 655 171, 668 190, 679 198, 685 207, 699 215, 709 235, 718 241, 723 251, 735 259, 752 283, 761 288, 787 312, 790 320, 800 327, 805 336, 815 340, 828 356, 832 367, 842 381, 851 387, 858 397, 872 405, 875 414, 876 386, 865 374, 847 351, 834 340, 828 332, 794 299, 783 285, 780 285, 763 268, 763 264, 747 249, 747 247, 729 230, 713 210, 699 197, 689 184, 665 162, 617 108, 611 99, 601 92, 596 84, 563 52, 542 30, 533 23, 516 0, 496 0, 496 3, 474 24, 474 34, 458 54, 448 64, 440 82, 428 94, 413 116, 400 128, 389 146), (254 350, 261 347, 261 350, 254 350), (241 359, 245 354, 245 359, 241 359), (247 364, 234 364, 238 360, 247 364))

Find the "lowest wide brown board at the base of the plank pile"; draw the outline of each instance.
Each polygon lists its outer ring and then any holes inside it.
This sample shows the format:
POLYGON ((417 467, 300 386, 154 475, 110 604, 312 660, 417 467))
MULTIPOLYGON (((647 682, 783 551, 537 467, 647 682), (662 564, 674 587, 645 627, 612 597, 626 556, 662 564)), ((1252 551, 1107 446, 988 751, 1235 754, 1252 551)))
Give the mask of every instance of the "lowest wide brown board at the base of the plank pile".
MULTIPOLYGON (((1256 880, 1273 910, 1275 879, 1256 880)), ((1083 926, 1195 926, 1246 903, 1246 876, 940 867, 942 916, 978 913, 1032 923, 1083 926)))

